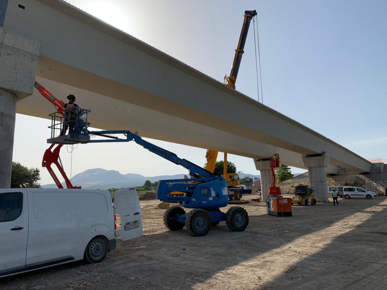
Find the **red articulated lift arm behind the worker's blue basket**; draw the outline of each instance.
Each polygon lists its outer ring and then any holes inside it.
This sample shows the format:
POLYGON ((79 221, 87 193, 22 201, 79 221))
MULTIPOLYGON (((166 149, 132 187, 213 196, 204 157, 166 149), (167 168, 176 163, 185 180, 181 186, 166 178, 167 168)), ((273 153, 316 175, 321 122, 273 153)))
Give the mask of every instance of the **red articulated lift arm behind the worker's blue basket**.
MULTIPOLYGON (((41 86, 38 82, 35 82, 35 88, 39 91, 39 93, 46 98, 52 105, 54 105, 55 109, 64 116, 64 103, 61 100, 58 100, 54 95, 48 92, 43 86, 41 86)), ((62 163, 60 161, 59 152, 62 148, 63 144, 57 144, 54 148, 55 144, 51 144, 51 146, 46 149, 43 155, 42 166, 47 168, 48 173, 51 175, 54 180, 56 186, 58 188, 63 188, 60 184, 59 179, 56 177, 55 172, 52 170, 51 165, 55 164, 58 168, 60 174, 62 175, 64 182, 66 182, 67 188, 80 189, 81 186, 73 186, 66 175, 66 172, 63 170, 62 163), (53 149, 54 148, 54 149, 53 149), (53 149, 53 150, 52 150, 53 149)))

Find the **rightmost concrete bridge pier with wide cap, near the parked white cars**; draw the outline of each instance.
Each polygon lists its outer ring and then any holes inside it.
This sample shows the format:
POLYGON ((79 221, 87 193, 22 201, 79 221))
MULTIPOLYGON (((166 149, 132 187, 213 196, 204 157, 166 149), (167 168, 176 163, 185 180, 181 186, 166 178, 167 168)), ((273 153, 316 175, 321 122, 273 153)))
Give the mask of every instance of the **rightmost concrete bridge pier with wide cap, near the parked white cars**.
POLYGON ((328 201, 327 191, 327 167, 330 157, 327 154, 321 156, 303 156, 302 161, 308 168, 309 185, 314 190, 314 195, 319 202, 328 201))

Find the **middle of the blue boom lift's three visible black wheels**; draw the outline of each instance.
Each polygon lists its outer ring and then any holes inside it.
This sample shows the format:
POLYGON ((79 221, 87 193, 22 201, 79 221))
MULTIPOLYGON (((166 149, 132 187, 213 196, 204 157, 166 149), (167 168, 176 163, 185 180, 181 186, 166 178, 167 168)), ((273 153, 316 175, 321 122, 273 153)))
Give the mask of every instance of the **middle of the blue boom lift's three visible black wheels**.
POLYGON ((191 236, 205 236, 210 232, 211 226, 210 214, 204 209, 192 209, 185 216, 185 227, 191 236))

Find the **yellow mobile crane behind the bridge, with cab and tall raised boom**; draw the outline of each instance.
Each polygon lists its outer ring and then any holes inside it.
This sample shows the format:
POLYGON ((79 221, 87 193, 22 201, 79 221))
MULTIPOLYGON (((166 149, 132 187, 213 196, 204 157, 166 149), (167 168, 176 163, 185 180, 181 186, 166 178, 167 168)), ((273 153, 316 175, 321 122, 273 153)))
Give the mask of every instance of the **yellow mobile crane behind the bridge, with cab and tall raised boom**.
MULTIPOLYGON (((235 89, 235 82, 238 76, 240 62, 242 60, 244 44, 246 43, 248 28, 250 26, 251 19, 256 15, 255 10, 247 10, 244 12, 244 20, 242 25, 242 30, 240 32, 238 46, 235 49, 234 61, 232 63, 230 76, 227 75, 224 77, 225 84, 230 88, 235 89)), ((207 150, 206 159, 206 170, 214 172, 216 159, 218 158, 218 151, 207 150)), ((242 188, 239 186, 239 176, 236 173, 227 173, 227 153, 224 153, 224 166, 223 166, 223 177, 227 180, 227 186, 229 191, 233 192, 233 198, 239 200, 243 192, 242 188)), ((247 193, 247 192, 246 192, 247 193)))

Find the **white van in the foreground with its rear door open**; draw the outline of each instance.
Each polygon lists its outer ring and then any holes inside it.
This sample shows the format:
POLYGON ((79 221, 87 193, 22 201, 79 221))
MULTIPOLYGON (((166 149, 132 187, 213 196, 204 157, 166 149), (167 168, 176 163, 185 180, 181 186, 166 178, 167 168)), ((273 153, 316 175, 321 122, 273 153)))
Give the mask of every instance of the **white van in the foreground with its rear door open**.
POLYGON ((142 235, 136 189, 0 189, 0 277, 85 259, 142 235), (122 228, 116 231, 115 215, 122 228))

